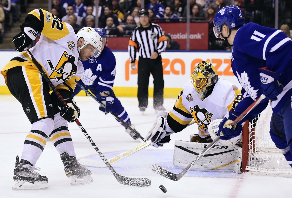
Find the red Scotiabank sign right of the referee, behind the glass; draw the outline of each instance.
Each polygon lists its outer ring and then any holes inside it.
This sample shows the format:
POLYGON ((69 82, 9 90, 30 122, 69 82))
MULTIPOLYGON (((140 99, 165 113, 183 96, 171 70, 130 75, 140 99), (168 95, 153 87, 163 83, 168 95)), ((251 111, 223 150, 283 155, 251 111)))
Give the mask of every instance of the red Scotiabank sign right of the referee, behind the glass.
MULTIPOLYGON (((190 23, 190 50, 208 49, 208 22, 190 23)), ((165 34, 180 44, 180 49, 187 48, 187 23, 159 23, 165 34)))

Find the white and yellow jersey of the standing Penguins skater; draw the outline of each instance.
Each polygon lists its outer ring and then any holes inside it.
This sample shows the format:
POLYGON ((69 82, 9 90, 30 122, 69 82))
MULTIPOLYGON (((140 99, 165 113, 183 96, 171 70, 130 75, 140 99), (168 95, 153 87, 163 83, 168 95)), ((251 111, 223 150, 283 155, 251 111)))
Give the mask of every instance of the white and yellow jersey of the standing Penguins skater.
MULTIPOLYGON (((56 88, 66 89, 73 93, 75 81, 81 79, 84 72, 79 60, 77 36, 73 28, 42 9, 35 9, 28 13, 25 23, 33 24, 41 32, 39 42, 30 49, 34 58, 44 68, 56 88)), ((1 74, 6 82, 8 69, 29 65, 37 69, 24 51, 9 62, 2 69, 1 74)))

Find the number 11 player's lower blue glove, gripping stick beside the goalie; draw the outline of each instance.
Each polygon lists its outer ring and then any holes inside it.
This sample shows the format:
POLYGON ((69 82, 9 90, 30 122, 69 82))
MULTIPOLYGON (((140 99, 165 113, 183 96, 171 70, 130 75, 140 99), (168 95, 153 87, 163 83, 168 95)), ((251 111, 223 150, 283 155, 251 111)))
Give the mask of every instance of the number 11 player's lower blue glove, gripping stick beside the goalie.
POLYGON ((231 138, 234 138, 241 133, 242 130, 241 124, 244 121, 240 121, 239 123, 237 123, 235 129, 233 129, 230 125, 240 114, 241 113, 230 111, 228 119, 225 117, 219 124, 218 135, 220 135, 221 132, 224 135, 220 136, 221 140, 230 140, 231 138))

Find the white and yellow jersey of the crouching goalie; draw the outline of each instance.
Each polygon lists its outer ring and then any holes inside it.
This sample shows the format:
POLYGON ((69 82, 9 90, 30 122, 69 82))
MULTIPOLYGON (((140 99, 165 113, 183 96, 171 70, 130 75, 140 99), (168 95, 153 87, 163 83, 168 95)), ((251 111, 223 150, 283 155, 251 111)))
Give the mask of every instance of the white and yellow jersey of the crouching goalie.
POLYGON ((209 123, 215 119, 223 119, 228 111, 234 109, 242 99, 241 91, 235 85, 219 79, 215 85, 210 86, 202 101, 189 80, 169 112, 167 122, 177 133, 185 129, 194 119, 199 127, 199 136, 205 138, 209 135, 209 123))

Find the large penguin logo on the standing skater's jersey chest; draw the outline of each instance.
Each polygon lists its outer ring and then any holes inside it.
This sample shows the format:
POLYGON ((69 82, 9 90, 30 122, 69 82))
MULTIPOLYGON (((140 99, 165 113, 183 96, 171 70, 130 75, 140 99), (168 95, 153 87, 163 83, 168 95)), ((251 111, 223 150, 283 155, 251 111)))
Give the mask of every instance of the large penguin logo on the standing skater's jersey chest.
POLYGON ((49 77, 50 79, 55 79, 56 82, 60 80, 67 81, 77 74, 75 57, 68 55, 66 51, 64 51, 56 67, 53 66, 51 60, 47 61, 53 71, 49 77))

